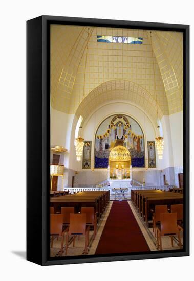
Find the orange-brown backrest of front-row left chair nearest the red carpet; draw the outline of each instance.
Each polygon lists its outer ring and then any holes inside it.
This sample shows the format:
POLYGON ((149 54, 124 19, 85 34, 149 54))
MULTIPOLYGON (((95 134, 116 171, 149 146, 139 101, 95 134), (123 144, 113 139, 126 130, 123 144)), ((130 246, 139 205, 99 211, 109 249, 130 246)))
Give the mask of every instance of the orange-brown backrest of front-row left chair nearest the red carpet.
POLYGON ((70 214, 70 235, 85 234, 86 214, 70 214))

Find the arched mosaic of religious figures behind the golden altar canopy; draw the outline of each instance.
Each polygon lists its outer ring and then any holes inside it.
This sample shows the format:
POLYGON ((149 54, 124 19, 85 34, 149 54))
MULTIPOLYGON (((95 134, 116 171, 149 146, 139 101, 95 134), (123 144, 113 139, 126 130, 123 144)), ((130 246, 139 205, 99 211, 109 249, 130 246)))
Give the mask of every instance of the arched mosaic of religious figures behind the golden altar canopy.
POLYGON ((105 119, 95 136, 95 168, 107 168, 109 155, 116 146, 128 149, 132 167, 145 167, 144 136, 139 124, 131 117, 119 114, 105 119))

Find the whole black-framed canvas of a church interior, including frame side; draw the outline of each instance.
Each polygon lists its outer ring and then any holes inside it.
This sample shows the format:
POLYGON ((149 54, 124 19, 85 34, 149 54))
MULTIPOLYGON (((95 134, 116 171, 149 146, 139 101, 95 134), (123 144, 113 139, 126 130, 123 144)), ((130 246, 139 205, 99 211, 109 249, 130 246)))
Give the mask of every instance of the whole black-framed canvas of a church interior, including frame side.
POLYGON ((189 255, 189 26, 27 21, 27 260, 189 255))

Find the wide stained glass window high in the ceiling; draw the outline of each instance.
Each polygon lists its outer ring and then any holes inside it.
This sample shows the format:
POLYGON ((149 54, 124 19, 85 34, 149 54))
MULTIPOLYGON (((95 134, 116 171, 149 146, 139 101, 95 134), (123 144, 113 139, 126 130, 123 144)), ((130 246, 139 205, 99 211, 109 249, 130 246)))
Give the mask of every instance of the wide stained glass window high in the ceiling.
POLYGON ((143 44, 143 38, 142 37, 97 35, 97 42, 124 43, 124 44, 143 44))

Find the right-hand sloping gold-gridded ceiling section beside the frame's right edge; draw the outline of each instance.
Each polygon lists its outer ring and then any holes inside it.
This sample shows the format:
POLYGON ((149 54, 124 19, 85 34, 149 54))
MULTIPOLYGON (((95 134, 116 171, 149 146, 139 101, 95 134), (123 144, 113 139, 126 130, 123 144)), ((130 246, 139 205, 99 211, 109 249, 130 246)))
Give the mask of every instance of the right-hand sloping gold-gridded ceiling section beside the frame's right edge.
POLYGON ((183 110, 183 34, 152 32, 154 53, 168 99, 169 114, 183 110))

